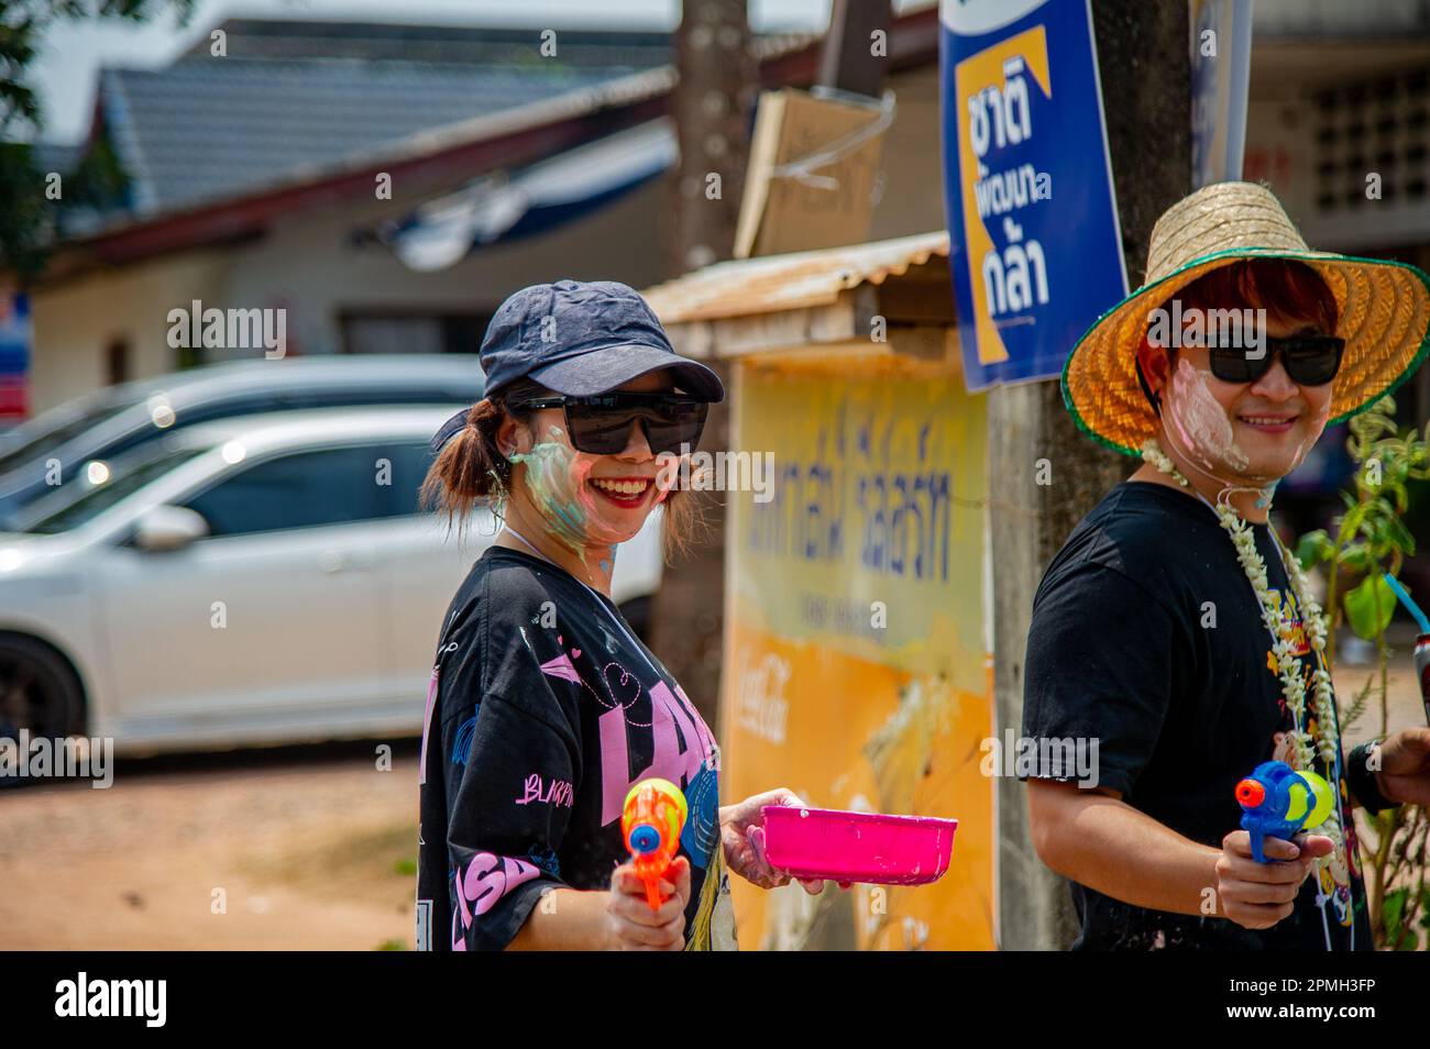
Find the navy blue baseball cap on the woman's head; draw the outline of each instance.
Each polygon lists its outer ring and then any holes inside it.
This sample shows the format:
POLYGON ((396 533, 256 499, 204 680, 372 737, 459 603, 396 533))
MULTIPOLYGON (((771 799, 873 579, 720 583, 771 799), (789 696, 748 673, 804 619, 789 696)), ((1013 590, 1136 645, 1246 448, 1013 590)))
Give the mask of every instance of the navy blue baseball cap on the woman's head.
MULTIPOLYGON (((568 397, 606 393, 648 372, 671 369, 675 384, 705 402, 725 399, 719 376, 671 346, 655 312, 615 280, 558 280, 512 293, 482 339, 486 396, 531 379, 568 397)), ((458 412, 432 439, 439 449, 466 426, 458 412)))

